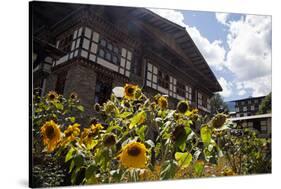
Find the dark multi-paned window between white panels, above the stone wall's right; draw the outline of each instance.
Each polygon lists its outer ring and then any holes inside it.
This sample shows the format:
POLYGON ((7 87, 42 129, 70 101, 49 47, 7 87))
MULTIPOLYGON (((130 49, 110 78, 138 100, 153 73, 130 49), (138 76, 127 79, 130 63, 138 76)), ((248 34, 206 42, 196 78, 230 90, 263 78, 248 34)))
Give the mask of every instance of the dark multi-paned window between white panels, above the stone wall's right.
POLYGON ((121 55, 118 46, 104 38, 100 39, 99 44, 98 56, 113 64, 119 65, 121 55))

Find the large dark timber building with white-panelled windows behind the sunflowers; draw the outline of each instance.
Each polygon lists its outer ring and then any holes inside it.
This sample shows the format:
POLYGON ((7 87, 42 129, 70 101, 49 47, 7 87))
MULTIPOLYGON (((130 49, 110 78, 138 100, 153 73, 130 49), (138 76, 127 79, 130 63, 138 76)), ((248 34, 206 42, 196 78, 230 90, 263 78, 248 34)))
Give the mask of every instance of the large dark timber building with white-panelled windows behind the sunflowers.
POLYGON ((202 113, 210 112, 210 97, 222 90, 186 29, 148 9, 30 5, 33 37, 63 52, 44 58, 52 66, 34 85, 40 80, 45 93, 75 91, 88 114, 125 83, 138 84, 148 95, 167 94, 171 107, 187 99, 202 113))

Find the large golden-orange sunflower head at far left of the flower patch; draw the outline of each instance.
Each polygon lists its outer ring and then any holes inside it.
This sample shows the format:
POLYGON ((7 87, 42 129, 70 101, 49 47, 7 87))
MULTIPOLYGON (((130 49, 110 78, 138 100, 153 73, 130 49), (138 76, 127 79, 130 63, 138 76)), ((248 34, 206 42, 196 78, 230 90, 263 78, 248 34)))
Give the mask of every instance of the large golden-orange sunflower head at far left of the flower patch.
POLYGON ((47 121, 41 127, 41 135, 43 137, 43 143, 47 147, 47 151, 54 151, 61 140, 61 131, 59 126, 53 120, 47 121))

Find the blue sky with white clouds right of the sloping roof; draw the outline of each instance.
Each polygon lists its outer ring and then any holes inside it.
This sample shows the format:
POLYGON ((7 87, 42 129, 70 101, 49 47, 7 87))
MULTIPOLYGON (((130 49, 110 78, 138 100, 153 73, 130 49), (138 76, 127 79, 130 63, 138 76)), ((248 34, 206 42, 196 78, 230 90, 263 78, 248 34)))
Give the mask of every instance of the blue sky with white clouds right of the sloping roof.
POLYGON ((271 16, 150 9, 186 28, 225 101, 271 92, 271 16))

